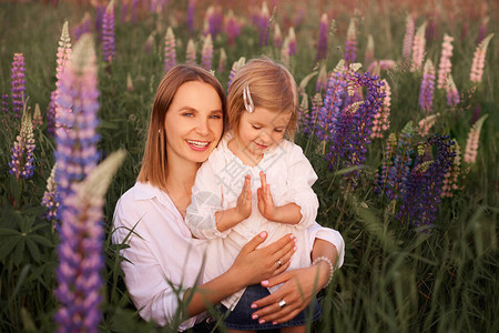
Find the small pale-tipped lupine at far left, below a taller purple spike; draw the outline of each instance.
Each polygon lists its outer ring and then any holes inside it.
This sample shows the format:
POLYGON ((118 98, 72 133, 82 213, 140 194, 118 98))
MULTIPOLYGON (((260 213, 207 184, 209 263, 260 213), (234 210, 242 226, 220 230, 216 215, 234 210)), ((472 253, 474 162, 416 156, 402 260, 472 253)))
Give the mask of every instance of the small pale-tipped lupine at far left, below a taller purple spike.
POLYGON ((34 137, 33 125, 31 123, 31 114, 24 110, 21 120, 21 130, 16 138, 12 148, 11 161, 9 162, 9 172, 19 178, 30 179, 33 176, 33 152, 34 137))

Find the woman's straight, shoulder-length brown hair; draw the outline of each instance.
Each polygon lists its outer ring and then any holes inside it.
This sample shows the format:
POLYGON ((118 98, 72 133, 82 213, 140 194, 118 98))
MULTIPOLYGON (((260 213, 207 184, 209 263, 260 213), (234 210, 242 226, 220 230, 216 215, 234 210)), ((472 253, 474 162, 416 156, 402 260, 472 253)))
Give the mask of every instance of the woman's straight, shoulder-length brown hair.
POLYGON ((150 182, 160 189, 166 185, 167 157, 164 121, 176 91, 182 84, 191 81, 205 82, 215 89, 222 101, 224 127, 227 123, 225 91, 218 80, 208 71, 198 67, 179 64, 172 68, 163 77, 156 90, 142 167, 136 179, 139 182, 150 182))

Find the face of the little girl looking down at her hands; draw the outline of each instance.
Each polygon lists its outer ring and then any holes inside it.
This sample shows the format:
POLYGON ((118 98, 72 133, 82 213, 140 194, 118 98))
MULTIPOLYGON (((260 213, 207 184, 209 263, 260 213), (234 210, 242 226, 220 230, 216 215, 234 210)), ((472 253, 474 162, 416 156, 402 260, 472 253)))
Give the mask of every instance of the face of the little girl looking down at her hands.
POLYGON ((259 107, 253 113, 243 111, 237 134, 242 149, 258 161, 264 152, 281 143, 289 119, 289 112, 259 107))

